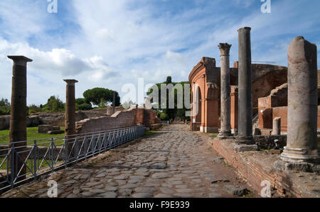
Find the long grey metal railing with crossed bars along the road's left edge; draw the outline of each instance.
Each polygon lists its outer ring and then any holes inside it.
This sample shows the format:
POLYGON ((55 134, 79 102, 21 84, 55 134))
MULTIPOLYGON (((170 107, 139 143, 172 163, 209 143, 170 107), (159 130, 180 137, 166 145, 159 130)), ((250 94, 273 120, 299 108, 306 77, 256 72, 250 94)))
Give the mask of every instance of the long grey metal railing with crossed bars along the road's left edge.
POLYGON ((0 150, 0 191, 123 145, 141 137, 144 131, 144 126, 133 126, 11 143, 0 150))

